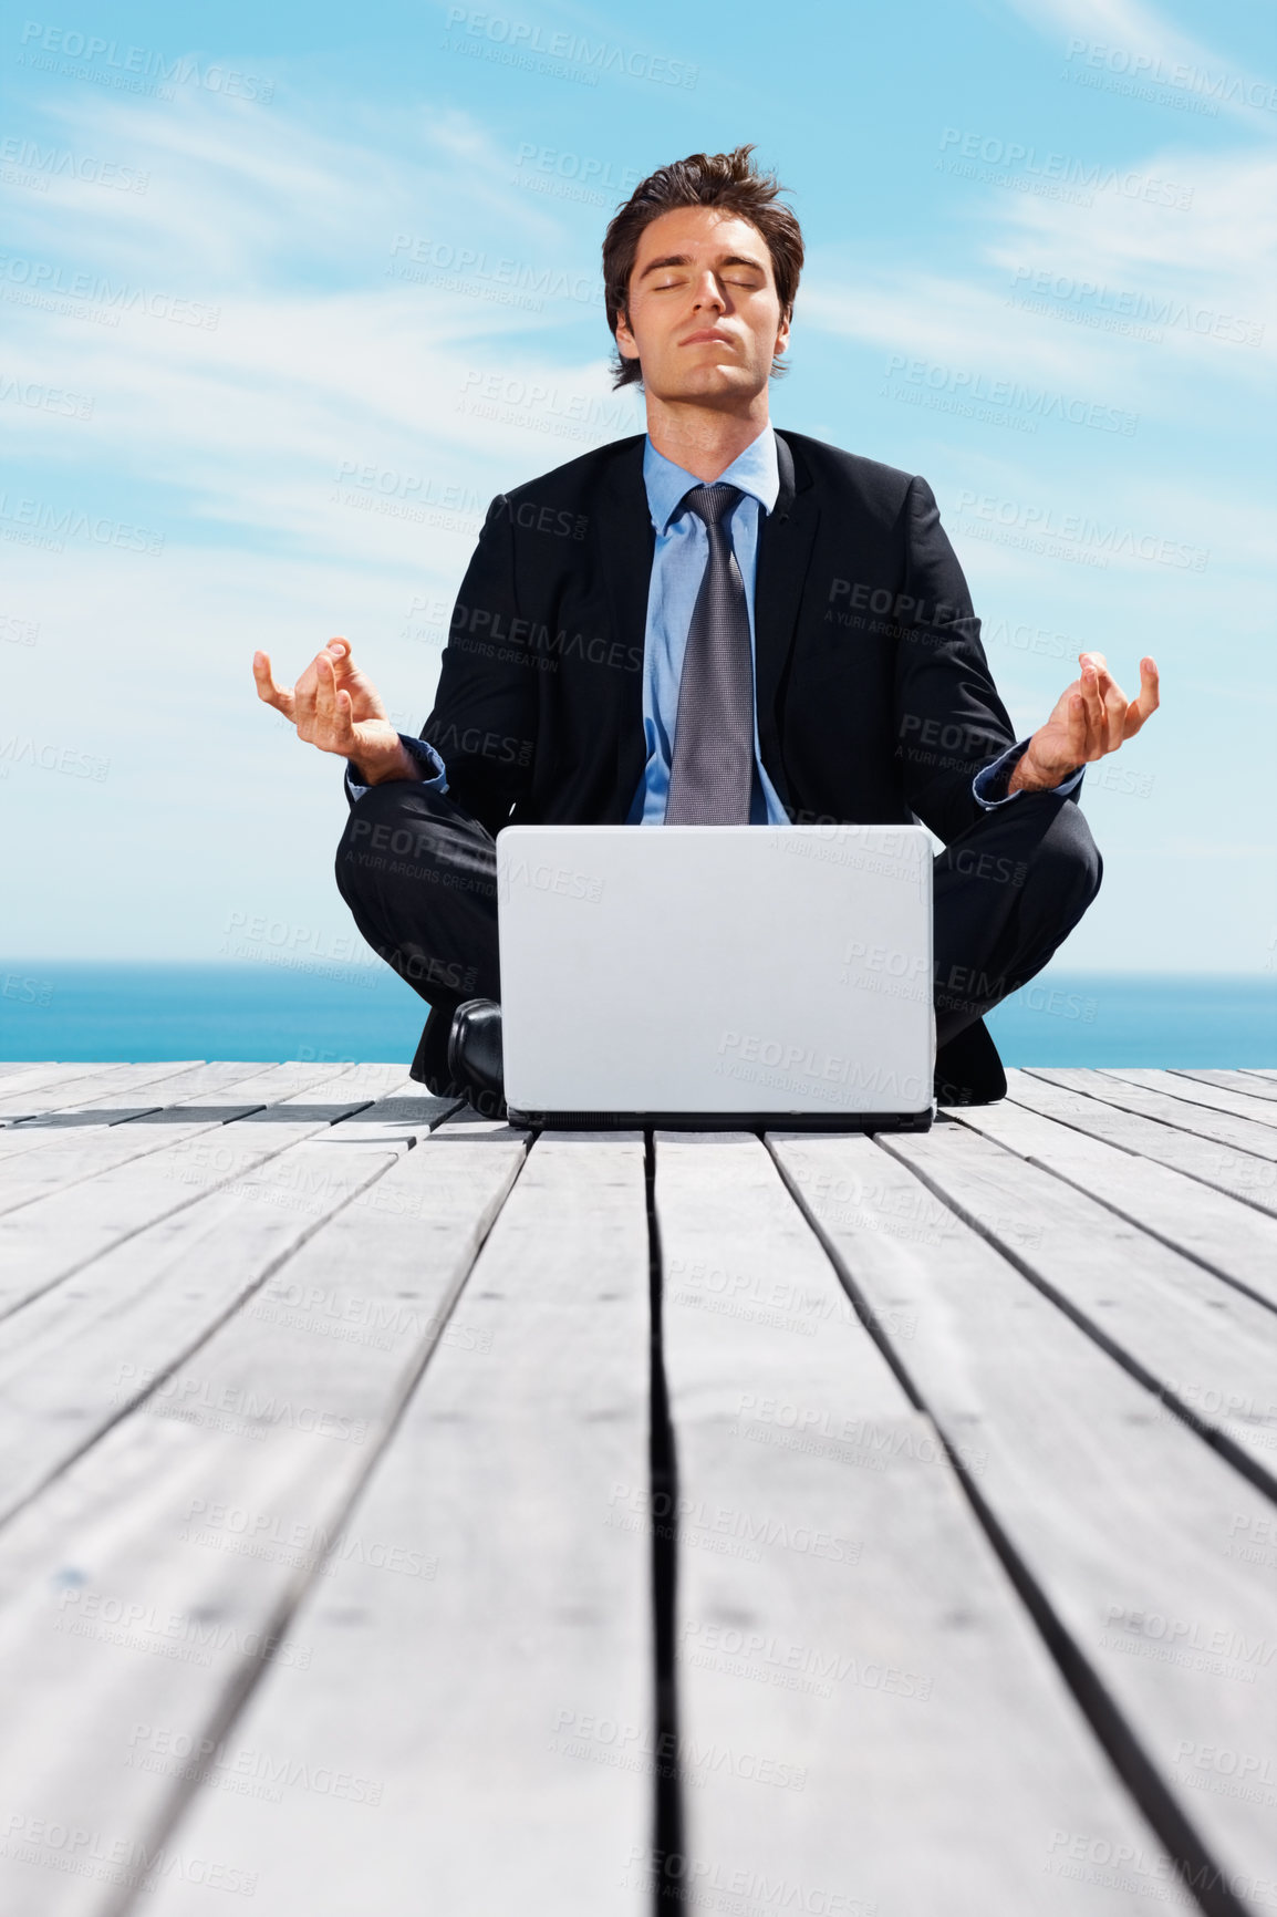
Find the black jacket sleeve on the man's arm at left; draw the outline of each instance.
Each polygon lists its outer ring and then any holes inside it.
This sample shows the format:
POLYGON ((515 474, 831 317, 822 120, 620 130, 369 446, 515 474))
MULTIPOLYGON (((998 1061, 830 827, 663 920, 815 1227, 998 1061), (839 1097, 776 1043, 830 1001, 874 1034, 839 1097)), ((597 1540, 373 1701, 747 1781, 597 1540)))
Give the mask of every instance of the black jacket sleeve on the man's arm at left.
POLYGON ((422 727, 447 769, 449 797, 493 836, 531 786, 537 711, 531 621, 520 619, 514 523, 499 493, 456 596, 435 704, 422 727))

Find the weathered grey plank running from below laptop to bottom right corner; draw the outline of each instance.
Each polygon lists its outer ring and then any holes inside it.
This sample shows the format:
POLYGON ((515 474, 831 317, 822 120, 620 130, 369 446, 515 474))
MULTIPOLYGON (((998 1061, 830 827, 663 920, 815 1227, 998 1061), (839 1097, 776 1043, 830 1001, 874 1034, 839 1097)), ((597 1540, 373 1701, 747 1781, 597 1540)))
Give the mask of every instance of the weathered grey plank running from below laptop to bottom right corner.
MULTIPOLYGON (((899 1219, 934 1198, 890 1152, 813 1137, 773 1148, 867 1307, 915 1313, 909 1340, 884 1332, 895 1363, 951 1442, 980 1445, 980 1499, 1162 1833, 1175 1827, 1204 1886, 1221 1869, 1237 1902, 1260 1907, 1271 1810, 1206 1794, 1193 1771, 1206 1750, 1271 1750, 1271 1572, 1242 1555, 1271 1537, 1271 1501, 1160 1417, 976 1231, 901 1236, 899 1219)), ((1231 1907, 1216 1886, 1214 1909, 1231 1907)))

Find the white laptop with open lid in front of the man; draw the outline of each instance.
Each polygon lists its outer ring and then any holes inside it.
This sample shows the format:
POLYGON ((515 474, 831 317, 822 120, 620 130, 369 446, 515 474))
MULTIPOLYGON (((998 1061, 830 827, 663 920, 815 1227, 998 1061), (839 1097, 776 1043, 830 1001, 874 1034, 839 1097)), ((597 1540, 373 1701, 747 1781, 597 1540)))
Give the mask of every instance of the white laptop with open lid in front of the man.
POLYGON ((516 1125, 932 1123, 922 826, 506 826, 516 1125))

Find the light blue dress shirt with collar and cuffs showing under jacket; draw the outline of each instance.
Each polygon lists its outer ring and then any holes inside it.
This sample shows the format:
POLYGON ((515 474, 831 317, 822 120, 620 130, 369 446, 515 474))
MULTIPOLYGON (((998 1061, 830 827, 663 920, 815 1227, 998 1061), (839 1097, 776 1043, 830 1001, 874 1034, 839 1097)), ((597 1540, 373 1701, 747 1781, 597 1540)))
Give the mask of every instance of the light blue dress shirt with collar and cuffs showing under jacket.
MULTIPOLYGON (((660 826, 665 822, 665 799, 669 796, 669 767, 673 763, 675 721, 679 713, 679 684, 683 679, 683 654, 692 627, 696 594, 706 575, 709 560, 709 533, 688 506, 683 504, 688 491, 706 481, 675 466, 663 452, 658 452, 650 439, 642 447, 642 481, 648 493, 648 512, 656 533, 652 554, 652 579, 648 585, 648 617, 642 638, 642 734, 648 748, 646 765, 638 790, 629 807, 627 824, 660 826)), ((771 512, 780 491, 780 470, 777 464, 777 435, 765 426, 757 439, 740 452, 727 472, 719 473, 715 485, 734 485, 740 498, 727 520, 736 566, 746 592, 750 613, 750 659, 757 659, 754 629, 754 583, 757 573, 757 525, 759 514, 771 512)), ((422 738, 401 732, 408 753, 422 767, 422 784, 431 792, 447 792, 447 769, 433 746, 422 738)), ((984 811, 997 805, 1010 805, 1018 792, 991 797, 997 780, 1010 773, 1028 738, 1009 746, 1007 751, 976 773, 972 796, 984 811)), ((351 799, 360 797, 368 788, 360 786, 347 763, 347 792, 351 799)), ((1081 780, 1076 771, 1055 792, 1068 794, 1081 780)), ((754 788, 750 796, 750 824, 788 824, 788 815, 780 796, 763 769, 757 744, 757 696, 754 702, 754 788)))

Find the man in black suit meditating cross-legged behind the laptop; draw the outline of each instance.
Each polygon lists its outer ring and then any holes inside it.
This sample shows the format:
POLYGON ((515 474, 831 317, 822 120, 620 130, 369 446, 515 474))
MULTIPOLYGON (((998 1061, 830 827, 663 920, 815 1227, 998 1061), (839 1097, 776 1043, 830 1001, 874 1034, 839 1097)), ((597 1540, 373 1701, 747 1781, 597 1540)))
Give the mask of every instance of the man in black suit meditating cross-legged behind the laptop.
POLYGON ((1152 659, 1127 702, 1081 654, 1016 740, 926 481, 771 427, 803 251, 750 151, 663 167, 612 220, 615 383, 642 380, 648 431, 493 500, 422 738, 345 640, 291 690, 253 661, 261 698, 347 759, 337 884, 431 1005, 412 1075, 481 1110, 500 1108, 495 834, 667 819, 930 826, 936 1093, 1001 1097, 982 1014, 1095 897, 1081 769, 1158 704, 1152 659))

